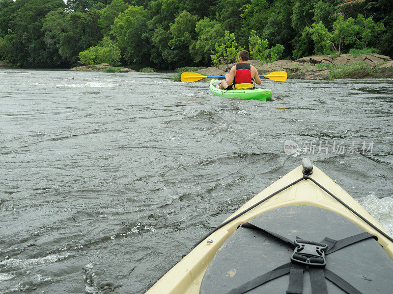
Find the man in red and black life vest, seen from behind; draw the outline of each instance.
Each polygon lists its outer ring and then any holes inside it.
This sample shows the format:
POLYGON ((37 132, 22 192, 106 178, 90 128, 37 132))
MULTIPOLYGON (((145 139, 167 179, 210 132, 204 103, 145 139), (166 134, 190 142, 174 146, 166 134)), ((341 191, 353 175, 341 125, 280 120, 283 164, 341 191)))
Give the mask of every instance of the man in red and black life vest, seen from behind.
POLYGON ((239 52, 237 57, 239 63, 234 65, 229 73, 225 74, 225 80, 222 80, 220 85, 216 86, 218 89, 232 90, 233 84, 251 83, 254 80, 258 85, 261 84, 258 71, 255 67, 250 65, 247 61, 250 59, 250 53, 246 50, 239 52))

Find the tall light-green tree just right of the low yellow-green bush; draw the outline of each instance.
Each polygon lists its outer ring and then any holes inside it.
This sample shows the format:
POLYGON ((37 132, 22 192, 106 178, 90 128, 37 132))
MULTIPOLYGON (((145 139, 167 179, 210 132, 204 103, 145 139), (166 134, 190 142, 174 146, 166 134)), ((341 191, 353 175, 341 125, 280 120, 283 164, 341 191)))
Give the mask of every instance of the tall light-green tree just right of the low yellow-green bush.
POLYGON ((143 6, 129 6, 114 19, 111 34, 116 38, 124 59, 130 63, 148 60, 147 11, 143 6))

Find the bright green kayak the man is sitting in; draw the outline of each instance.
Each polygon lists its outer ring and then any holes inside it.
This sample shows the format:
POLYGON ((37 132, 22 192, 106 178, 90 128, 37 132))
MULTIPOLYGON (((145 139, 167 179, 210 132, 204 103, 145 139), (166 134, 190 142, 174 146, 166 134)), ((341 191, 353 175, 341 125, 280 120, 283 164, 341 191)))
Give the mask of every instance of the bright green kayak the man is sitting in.
POLYGON ((210 92, 215 96, 222 96, 226 98, 242 98, 246 100, 254 99, 266 101, 272 97, 272 90, 269 89, 245 89, 245 90, 221 90, 217 89, 216 85, 220 84, 220 80, 212 79, 210 81, 209 89, 210 92))

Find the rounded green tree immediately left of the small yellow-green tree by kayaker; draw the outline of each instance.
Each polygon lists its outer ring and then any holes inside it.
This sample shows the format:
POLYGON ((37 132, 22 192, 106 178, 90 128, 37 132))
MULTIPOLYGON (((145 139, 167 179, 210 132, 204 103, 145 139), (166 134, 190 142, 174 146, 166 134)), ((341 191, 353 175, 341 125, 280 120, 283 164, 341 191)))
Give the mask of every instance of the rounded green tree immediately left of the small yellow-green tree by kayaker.
POLYGON ((224 41, 224 30, 220 22, 204 17, 196 24, 197 41, 190 46, 190 54, 197 64, 209 66, 211 62, 211 51, 216 43, 224 41))

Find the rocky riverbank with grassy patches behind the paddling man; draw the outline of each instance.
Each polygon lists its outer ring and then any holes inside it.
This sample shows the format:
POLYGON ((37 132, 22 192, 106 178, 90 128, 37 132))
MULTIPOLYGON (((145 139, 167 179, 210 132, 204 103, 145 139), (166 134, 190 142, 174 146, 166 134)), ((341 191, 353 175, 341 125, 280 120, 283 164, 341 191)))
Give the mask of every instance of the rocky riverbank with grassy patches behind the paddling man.
MULTIPOLYGON (((278 60, 264 63, 249 60, 259 74, 286 71, 288 79, 328 80, 334 78, 393 78, 393 60, 389 56, 369 53, 357 57, 352 54, 339 56, 308 56, 297 60, 278 60)), ((203 75, 224 75, 233 64, 199 70, 203 75)))

